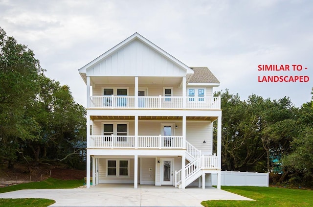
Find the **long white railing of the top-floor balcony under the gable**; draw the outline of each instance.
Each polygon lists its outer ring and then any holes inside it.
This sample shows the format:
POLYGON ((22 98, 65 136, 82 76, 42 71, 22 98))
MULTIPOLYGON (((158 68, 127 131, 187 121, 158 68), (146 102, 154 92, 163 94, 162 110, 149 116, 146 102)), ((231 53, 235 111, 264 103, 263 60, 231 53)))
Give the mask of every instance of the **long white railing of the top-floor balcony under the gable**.
POLYGON ((221 109, 221 97, 90 96, 90 108, 103 109, 221 109))

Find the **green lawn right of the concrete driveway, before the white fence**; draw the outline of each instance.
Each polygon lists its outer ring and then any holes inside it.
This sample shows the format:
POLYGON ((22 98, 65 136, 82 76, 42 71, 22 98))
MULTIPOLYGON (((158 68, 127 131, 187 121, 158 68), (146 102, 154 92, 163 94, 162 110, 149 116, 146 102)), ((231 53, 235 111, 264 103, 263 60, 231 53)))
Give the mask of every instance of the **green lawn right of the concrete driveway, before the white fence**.
POLYGON ((202 201, 204 207, 309 207, 313 206, 313 191, 277 187, 222 186, 223 190, 255 201, 202 201))

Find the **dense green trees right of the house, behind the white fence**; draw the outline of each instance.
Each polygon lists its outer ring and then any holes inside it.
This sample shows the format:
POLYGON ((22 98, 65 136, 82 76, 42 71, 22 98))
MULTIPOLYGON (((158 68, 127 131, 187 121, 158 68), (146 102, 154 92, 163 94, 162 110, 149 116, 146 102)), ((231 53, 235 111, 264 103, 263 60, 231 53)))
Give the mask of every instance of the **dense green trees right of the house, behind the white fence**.
POLYGON ((223 110, 222 170, 270 172, 280 183, 313 185, 313 101, 296 108, 288 97, 216 95, 223 110))

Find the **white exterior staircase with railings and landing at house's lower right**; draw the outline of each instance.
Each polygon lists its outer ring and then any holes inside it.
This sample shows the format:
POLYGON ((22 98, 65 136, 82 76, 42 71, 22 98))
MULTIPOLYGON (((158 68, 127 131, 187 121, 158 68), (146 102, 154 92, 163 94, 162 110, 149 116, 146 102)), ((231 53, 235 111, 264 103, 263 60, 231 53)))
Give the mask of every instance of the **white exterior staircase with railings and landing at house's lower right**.
MULTIPOLYGON (((186 141, 186 160, 189 161, 185 165, 185 186, 191 184, 200 176, 203 170, 217 169, 218 159, 216 156, 201 155, 201 150, 198 150, 188 141, 186 141)), ((182 188, 182 169, 175 171, 175 187, 182 188)))

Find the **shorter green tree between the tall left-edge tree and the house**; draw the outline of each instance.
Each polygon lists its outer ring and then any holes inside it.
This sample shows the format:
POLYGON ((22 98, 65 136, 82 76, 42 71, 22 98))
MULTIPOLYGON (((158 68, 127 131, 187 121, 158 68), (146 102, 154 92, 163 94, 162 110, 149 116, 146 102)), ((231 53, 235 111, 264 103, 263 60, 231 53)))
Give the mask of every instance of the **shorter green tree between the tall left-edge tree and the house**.
POLYGON ((29 140, 27 148, 36 162, 62 160, 75 154, 73 145, 86 138, 86 110, 77 104, 68 86, 42 79, 32 115, 41 126, 39 139, 29 140))

